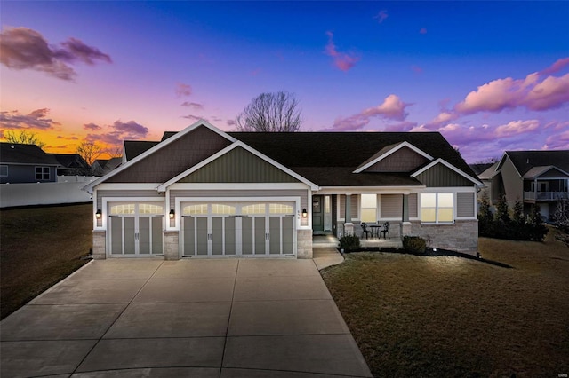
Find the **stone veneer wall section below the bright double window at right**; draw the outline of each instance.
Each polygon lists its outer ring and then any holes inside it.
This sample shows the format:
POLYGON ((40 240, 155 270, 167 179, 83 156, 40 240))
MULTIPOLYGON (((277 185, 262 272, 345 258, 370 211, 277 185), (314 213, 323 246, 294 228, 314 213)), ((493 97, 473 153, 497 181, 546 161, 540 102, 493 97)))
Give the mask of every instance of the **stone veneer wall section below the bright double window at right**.
POLYGON ((454 224, 412 222, 412 235, 430 239, 430 247, 455 250, 470 255, 478 250, 478 220, 457 220, 454 224))

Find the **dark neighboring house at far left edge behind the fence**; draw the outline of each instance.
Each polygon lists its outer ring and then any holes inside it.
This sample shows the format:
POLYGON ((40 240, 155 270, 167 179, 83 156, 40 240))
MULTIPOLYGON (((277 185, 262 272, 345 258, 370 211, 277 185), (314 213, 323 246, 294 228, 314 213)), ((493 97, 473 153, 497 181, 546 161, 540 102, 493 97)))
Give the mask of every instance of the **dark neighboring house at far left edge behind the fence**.
POLYGON ((60 163, 36 145, 0 143, 0 184, 57 182, 60 163))

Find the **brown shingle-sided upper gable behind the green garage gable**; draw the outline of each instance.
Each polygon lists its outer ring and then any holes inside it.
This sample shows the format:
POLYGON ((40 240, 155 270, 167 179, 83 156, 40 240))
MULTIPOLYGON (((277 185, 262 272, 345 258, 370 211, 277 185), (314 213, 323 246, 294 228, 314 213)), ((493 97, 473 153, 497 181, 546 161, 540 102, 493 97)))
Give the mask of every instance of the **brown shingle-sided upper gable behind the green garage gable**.
POLYGON ((202 126, 124 169, 107 183, 165 183, 229 146, 228 139, 202 126))

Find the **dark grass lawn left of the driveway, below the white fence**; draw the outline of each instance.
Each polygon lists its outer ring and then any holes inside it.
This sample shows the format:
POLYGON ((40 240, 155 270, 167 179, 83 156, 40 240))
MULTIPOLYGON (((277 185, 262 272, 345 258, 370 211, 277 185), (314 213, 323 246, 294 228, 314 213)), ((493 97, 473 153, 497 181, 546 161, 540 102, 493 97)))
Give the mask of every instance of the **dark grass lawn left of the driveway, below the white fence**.
POLYGON ((4 319, 85 264, 92 205, 0 211, 0 312, 4 319))

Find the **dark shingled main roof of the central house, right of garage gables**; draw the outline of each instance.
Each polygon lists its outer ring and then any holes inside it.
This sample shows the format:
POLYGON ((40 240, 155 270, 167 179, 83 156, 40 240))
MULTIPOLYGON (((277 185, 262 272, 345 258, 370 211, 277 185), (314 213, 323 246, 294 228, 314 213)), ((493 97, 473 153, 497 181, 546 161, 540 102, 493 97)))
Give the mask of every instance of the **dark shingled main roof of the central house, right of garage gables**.
POLYGON ((352 173, 394 147, 408 142, 435 159, 442 158, 477 178, 469 165, 438 132, 229 132, 317 185, 421 185, 412 172, 352 173), (388 147, 388 148, 386 148, 388 147), (379 154, 381 153, 381 154, 379 154))

